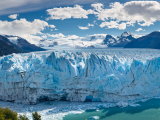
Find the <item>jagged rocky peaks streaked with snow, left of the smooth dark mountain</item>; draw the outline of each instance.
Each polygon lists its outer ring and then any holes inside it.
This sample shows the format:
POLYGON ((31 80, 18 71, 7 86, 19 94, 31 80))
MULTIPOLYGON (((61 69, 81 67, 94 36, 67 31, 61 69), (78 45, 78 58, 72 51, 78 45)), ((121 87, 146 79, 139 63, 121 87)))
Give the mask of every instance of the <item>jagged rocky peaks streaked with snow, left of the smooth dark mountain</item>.
POLYGON ((124 47, 127 43, 135 40, 135 37, 130 32, 124 32, 121 36, 113 37, 111 35, 107 35, 103 40, 103 45, 107 45, 108 47, 124 47))

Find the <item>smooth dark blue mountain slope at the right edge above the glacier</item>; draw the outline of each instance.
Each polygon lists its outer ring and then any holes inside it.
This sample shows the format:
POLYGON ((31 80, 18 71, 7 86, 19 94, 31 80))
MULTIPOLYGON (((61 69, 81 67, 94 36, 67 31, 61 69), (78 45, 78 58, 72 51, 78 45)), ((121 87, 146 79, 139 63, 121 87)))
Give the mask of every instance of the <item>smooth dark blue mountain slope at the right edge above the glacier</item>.
POLYGON ((124 48, 154 48, 160 49, 160 32, 155 31, 146 36, 129 42, 124 48))

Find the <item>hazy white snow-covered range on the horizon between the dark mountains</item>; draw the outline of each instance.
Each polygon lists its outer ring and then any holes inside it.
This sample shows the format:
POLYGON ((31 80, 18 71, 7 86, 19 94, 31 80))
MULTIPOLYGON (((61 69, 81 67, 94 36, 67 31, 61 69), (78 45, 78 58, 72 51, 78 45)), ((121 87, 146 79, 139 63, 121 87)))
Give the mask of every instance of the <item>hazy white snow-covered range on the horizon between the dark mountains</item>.
MULTIPOLYGON (((95 47, 102 47, 102 41, 105 39, 106 34, 94 34, 94 35, 87 35, 86 37, 79 37, 77 35, 63 35, 62 33, 58 34, 47 34, 48 37, 53 37, 54 40, 46 40, 46 46, 53 44, 53 42, 58 42, 58 48, 62 47, 88 47, 88 46, 95 46, 95 47)), ((106 46, 103 46, 106 47, 106 46)))

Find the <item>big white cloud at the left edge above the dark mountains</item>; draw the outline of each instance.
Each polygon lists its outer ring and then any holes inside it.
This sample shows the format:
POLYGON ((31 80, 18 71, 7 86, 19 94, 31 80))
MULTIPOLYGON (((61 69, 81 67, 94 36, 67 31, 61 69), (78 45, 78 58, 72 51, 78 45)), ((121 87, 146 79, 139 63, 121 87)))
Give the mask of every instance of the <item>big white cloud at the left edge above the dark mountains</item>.
MULTIPOLYGON (((27 21, 25 18, 20 20, 0 21, 0 34, 15 35, 25 38, 30 43, 34 44, 42 39, 42 31, 50 27, 50 25, 43 20, 34 19, 34 21, 27 21)), ((44 37, 44 36, 43 36, 44 37)))

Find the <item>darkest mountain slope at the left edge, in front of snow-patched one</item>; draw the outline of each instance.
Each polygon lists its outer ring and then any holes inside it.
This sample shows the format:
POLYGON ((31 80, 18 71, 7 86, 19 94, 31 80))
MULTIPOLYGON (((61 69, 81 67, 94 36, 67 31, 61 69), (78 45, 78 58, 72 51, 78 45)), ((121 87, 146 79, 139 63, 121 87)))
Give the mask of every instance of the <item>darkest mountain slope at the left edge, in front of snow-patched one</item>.
POLYGON ((3 39, 5 38, 0 35, 0 56, 19 53, 19 51, 11 43, 7 43, 3 41, 3 39))

